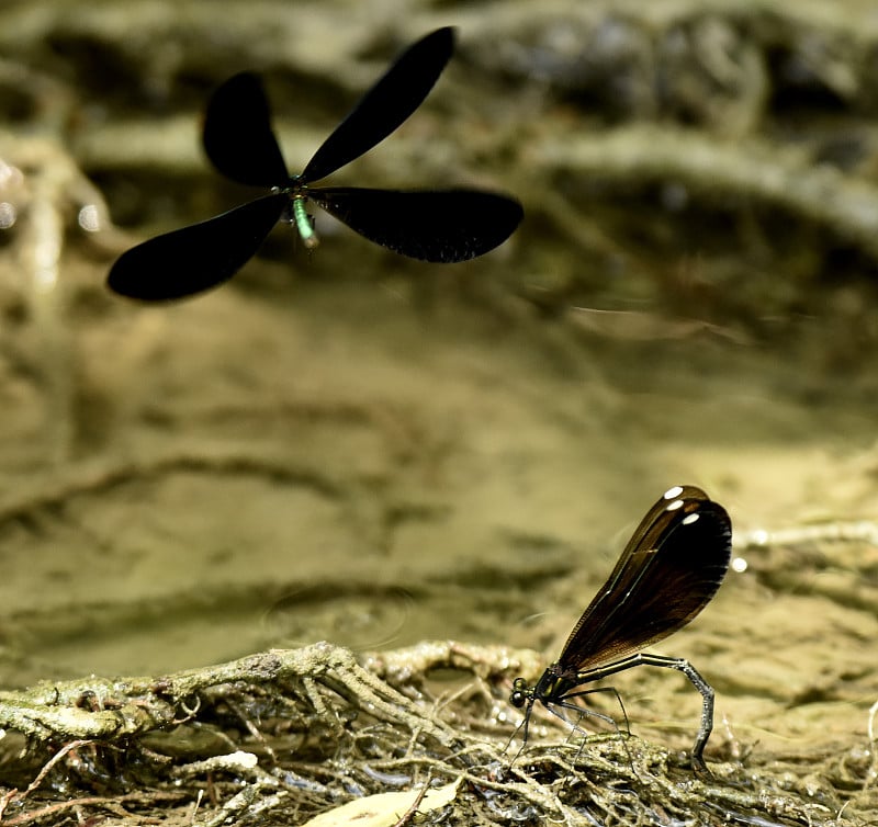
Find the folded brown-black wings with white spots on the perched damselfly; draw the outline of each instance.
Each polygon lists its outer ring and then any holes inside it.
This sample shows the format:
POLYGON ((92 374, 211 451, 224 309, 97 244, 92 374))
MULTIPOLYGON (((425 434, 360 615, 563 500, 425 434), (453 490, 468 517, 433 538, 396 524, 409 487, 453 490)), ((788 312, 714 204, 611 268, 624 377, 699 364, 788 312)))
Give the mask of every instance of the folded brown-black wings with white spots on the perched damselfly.
POLYGON ((571 632, 561 670, 624 658, 685 626, 716 594, 731 553, 732 523, 722 506, 695 486, 666 491, 571 632))

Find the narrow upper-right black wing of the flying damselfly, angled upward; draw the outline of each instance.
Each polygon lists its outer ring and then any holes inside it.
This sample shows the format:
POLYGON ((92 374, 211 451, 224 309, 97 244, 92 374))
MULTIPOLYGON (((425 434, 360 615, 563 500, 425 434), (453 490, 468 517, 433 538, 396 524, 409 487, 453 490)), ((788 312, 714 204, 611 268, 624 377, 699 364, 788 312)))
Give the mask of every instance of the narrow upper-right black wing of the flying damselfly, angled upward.
POLYGON ((454 30, 438 29, 403 53, 314 154, 302 183, 319 181, 384 140, 424 101, 454 48, 454 30))

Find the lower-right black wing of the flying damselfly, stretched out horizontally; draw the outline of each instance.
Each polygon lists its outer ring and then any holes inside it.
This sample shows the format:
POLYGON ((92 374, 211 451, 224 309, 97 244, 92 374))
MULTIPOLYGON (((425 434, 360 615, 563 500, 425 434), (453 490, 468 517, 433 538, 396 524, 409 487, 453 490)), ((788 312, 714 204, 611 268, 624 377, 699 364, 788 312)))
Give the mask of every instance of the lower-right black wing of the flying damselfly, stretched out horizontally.
POLYGON ((481 190, 369 190, 334 186, 308 197, 370 241, 421 261, 474 259, 502 245, 521 205, 481 190))

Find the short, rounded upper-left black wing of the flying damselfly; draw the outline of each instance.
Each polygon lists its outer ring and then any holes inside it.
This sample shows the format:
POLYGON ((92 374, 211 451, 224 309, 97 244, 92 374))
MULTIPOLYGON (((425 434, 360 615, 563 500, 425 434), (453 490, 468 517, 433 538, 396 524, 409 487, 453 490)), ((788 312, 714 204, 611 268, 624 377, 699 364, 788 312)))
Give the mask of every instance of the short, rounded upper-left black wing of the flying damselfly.
POLYGON ((286 165, 271 129, 271 111, 256 75, 229 78, 204 114, 204 151, 227 178, 250 186, 283 186, 286 165))

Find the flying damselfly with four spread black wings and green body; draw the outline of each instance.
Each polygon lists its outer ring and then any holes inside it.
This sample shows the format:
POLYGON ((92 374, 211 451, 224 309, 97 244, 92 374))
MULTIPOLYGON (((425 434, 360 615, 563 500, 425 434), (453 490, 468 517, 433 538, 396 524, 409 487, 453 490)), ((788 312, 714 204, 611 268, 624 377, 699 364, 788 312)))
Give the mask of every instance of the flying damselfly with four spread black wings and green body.
POLYGON ((465 261, 503 243, 524 213, 515 199, 499 193, 311 185, 369 151, 406 121, 432 89, 453 47, 454 31, 449 27, 409 46, 297 175, 288 172, 259 78, 244 72, 227 80, 207 104, 204 149, 224 175, 268 188, 271 194, 127 250, 110 270, 109 286, 143 301, 209 290, 244 267, 282 217, 296 225, 305 247, 315 247, 308 201, 371 241, 423 261, 465 261))

